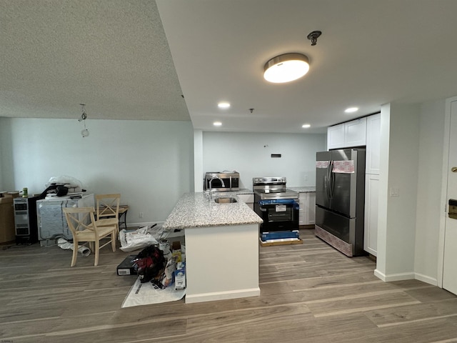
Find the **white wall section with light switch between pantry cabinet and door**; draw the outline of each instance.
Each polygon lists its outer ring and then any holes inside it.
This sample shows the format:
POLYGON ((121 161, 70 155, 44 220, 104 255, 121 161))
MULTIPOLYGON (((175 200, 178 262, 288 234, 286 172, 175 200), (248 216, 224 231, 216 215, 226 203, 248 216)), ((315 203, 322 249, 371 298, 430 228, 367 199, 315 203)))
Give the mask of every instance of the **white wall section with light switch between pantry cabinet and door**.
MULTIPOLYGON (((383 119, 381 109, 381 136, 386 134, 383 119)), ((393 281, 415 277, 419 106, 390 104, 388 121, 388 165, 381 167, 380 181, 384 205, 379 215, 385 217, 378 221, 378 244, 383 247, 378 249, 376 274, 393 281), (395 189, 398 197, 391 194, 395 189)), ((381 150, 381 163, 385 158, 381 150)))

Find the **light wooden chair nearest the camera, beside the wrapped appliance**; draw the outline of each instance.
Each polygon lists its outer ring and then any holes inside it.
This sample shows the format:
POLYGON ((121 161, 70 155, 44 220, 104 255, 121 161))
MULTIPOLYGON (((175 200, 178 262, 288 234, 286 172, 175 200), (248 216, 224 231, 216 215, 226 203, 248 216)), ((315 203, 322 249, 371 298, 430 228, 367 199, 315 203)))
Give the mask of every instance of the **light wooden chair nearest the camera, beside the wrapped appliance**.
POLYGON ((89 248, 95 252, 94 266, 99 264, 100 249, 111 243, 113 252, 116 251, 116 227, 99 227, 94 217, 94 207, 64 207, 66 222, 73 234, 73 258, 71 267, 76 264, 78 245, 80 242, 89 242, 89 248), (111 239, 100 246, 100 240, 111 236, 111 239))

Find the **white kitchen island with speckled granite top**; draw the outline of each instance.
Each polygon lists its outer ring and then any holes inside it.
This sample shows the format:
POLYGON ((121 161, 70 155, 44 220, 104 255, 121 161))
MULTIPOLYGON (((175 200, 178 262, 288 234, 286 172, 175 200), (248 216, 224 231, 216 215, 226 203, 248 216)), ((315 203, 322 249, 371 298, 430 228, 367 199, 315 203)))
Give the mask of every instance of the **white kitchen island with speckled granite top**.
POLYGON ((260 295, 258 225, 262 219, 236 195, 186 193, 164 223, 184 229, 186 303, 260 295))

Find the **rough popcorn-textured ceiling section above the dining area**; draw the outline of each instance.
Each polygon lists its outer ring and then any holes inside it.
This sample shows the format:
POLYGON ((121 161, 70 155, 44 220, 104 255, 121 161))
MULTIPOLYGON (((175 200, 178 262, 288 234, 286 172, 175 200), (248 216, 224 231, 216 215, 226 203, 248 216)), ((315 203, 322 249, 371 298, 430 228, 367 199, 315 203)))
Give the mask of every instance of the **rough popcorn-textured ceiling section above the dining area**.
POLYGON ((0 1, 0 116, 190 120, 154 1, 0 1))

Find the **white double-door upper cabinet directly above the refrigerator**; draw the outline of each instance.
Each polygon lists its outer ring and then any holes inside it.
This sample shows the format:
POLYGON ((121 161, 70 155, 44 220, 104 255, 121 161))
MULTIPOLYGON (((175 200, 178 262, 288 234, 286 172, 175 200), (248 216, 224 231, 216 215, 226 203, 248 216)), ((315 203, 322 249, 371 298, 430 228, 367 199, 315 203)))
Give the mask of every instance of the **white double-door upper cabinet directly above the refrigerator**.
POLYGON ((366 145, 366 117, 329 126, 327 129, 327 149, 364 145, 366 145))

